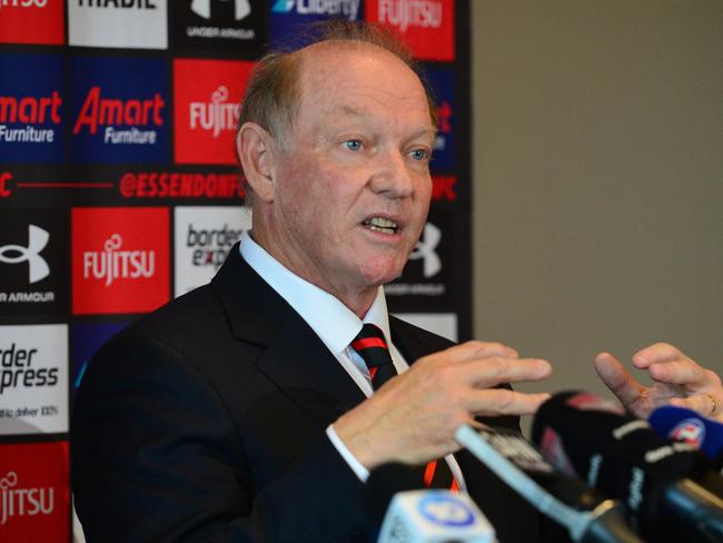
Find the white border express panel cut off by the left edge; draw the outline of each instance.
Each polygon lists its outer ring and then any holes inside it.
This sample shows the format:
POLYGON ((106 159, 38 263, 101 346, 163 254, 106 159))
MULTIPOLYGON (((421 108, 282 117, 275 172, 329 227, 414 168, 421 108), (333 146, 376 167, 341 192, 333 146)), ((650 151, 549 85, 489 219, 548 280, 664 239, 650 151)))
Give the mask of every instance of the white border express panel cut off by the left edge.
POLYGON ((0 326, 0 434, 65 432, 68 326, 0 326))

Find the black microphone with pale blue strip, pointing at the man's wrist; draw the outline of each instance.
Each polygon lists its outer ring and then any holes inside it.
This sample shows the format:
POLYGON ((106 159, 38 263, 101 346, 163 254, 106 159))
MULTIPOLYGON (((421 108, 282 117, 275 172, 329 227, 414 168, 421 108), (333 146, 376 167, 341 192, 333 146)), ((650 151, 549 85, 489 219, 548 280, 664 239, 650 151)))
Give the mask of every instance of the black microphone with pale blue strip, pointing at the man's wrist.
POLYGON ((637 543, 621 505, 553 468, 519 433, 464 424, 455 438, 575 542, 637 543))

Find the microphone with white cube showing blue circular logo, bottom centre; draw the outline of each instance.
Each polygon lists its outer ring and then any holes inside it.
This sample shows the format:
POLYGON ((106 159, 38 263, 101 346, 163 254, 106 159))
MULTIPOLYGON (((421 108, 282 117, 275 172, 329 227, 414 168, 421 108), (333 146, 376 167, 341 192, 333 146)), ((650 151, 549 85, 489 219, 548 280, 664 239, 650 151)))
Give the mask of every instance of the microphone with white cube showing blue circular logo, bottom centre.
POLYGON ((367 504, 373 525, 382 523, 379 543, 496 541, 492 524, 466 493, 419 487, 419 471, 412 466, 385 464, 372 472, 367 504))

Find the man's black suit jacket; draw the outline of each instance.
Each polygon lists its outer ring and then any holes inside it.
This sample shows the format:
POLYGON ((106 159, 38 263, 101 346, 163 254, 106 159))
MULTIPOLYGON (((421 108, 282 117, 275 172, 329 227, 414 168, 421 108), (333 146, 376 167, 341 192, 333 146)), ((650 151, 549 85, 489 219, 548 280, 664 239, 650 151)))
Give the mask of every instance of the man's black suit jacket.
MULTIPOLYGON (((450 345, 390 326, 409 362, 450 345)), ((71 421, 88 541, 366 541, 364 484, 325 434, 364 399, 234 248, 209 285, 139 319, 89 365, 71 421)), ((535 541, 532 509, 469 454, 457 460, 499 540, 535 541)))

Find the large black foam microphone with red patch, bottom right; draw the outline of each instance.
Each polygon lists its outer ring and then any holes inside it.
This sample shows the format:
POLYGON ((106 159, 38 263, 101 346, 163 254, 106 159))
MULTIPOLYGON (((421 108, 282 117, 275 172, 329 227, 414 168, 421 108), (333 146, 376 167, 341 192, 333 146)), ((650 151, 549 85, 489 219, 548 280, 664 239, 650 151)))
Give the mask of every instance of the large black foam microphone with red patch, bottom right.
POLYGON ((533 441, 566 473, 621 498, 646 540, 723 541, 723 480, 705 456, 606 405, 593 394, 555 394, 535 415, 533 441))

